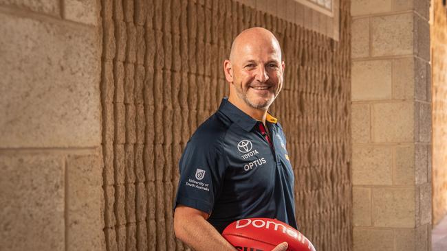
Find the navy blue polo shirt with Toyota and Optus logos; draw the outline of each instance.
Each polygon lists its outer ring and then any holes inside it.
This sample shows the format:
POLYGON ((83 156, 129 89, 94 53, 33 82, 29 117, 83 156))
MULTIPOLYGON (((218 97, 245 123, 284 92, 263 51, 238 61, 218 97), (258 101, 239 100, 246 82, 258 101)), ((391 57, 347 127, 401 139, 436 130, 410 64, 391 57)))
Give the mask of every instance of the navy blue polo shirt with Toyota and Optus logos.
POLYGON ((188 141, 179 162, 175 206, 210 214, 219 232, 243 218, 276 218, 296 228, 294 174, 281 125, 271 115, 270 141, 257 121, 224 98, 188 141))

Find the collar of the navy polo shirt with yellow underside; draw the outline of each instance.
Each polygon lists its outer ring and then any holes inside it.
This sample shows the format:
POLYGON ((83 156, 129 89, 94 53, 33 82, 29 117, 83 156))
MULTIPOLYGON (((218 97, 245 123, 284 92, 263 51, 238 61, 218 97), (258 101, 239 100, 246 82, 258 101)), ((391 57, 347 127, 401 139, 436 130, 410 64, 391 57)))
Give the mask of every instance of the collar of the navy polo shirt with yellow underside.
MULTIPOLYGON (((219 111, 226 115, 231 121, 237 123, 241 128, 243 128, 243 130, 246 130, 247 132, 250 132, 253 129, 254 125, 256 125, 257 123, 256 119, 253 119, 241 109, 237 108, 237 106, 231 104, 231 102, 228 101, 228 97, 224 97, 222 99, 219 111)), ((270 115, 270 113, 267 113, 267 117, 265 117, 265 120, 270 123, 276 123, 278 121, 275 117, 270 115)))

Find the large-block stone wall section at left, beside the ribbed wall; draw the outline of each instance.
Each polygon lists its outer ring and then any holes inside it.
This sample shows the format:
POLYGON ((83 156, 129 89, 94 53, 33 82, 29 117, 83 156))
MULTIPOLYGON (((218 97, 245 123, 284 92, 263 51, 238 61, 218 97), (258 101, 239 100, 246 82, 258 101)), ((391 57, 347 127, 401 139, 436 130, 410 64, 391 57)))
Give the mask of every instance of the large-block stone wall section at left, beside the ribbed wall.
POLYGON ((0 1, 0 250, 103 250, 97 1, 0 1))

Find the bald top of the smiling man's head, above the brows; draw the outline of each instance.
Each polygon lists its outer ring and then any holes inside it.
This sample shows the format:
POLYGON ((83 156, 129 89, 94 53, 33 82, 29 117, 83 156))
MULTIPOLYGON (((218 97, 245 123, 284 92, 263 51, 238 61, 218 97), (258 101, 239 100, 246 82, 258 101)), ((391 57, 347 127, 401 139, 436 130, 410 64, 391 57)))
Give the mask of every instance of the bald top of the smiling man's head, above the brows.
POLYGON ((272 32, 262 27, 252 27, 243 30, 231 45, 230 61, 238 60, 241 53, 245 53, 251 49, 270 49, 276 52, 279 60, 282 60, 281 47, 272 32))

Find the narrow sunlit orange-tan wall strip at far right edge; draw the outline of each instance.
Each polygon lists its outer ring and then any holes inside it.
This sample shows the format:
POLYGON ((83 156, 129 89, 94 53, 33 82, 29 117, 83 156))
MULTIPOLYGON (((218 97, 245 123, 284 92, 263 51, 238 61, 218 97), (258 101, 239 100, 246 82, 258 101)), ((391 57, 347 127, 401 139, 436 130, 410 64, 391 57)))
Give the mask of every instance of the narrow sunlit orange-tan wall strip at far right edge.
POLYGON ((447 9, 432 1, 433 224, 447 214, 447 9))

